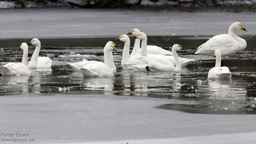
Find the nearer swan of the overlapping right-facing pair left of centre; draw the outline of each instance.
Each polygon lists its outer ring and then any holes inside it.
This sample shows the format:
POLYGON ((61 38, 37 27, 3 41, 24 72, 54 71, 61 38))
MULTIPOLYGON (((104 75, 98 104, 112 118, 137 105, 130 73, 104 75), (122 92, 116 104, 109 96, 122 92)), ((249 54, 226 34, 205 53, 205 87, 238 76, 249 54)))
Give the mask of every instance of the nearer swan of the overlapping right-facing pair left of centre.
POLYGON ((112 59, 109 59, 110 57, 109 52, 112 50, 116 51, 115 47, 111 44, 106 44, 106 46, 104 47, 104 63, 99 61, 88 61, 88 64, 86 66, 84 66, 83 68, 80 68, 83 76, 86 76, 86 77, 113 76, 112 70, 108 67, 108 65, 113 62, 112 59))

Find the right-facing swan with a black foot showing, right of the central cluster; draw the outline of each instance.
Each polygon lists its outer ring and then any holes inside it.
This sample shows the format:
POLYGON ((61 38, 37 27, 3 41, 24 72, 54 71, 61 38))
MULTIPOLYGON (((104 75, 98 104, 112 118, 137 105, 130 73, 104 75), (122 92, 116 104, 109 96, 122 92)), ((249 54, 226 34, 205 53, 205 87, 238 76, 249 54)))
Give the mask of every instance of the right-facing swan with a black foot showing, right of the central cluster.
MULTIPOLYGON (((137 38, 140 38, 140 36, 138 36, 137 38)), ((177 51, 180 51, 180 50, 186 50, 186 49, 182 49, 182 47, 179 44, 174 44, 172 46, 172 54, 175 60, 176 67, 171 61, 162 58, 163 57, 162 55, 141 56, 138 59, 140 59, 144 63, 140 65, 132 65, 132 66, 134 66, 135 68, 141 71, 180 72, 181 65, 177 55, 177 51)))

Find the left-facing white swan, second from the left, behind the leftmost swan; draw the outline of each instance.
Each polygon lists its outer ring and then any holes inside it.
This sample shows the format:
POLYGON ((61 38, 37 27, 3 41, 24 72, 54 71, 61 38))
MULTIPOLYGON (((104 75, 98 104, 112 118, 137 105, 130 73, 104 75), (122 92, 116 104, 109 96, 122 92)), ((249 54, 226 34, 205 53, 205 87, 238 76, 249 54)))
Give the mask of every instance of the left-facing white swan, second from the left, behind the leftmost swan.
POLYGON ((28 63, 28 68, 51 68, 52 67, 52 60, 48 57, 38 57, 40 48, 41 48, 41 42, 34 38, 32 39, 28 45, 35 45, 36 49, 31 57, 31 60, 28 63))

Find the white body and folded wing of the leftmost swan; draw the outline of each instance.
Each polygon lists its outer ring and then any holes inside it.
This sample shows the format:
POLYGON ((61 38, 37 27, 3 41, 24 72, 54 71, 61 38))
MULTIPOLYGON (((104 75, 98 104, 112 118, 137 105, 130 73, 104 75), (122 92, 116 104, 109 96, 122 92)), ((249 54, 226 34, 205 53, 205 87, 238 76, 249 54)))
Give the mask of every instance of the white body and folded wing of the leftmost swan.
POLYGON ((4 76, 20 76, 20 75, 30 75, 30 70, 22 63, 8 63, 3 67, 0 67, 2 75, 4 76))

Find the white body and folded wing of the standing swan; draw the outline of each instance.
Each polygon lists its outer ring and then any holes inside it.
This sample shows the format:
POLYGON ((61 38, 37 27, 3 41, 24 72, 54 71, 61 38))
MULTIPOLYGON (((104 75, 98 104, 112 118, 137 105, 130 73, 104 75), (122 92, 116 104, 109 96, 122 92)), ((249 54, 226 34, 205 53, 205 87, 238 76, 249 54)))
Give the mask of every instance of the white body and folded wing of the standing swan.
POLYGON ((215 49, 220 49, 221 56, 227 56, 240 51, 240 43, 228 34, 213 36, 200 45, 195 54, 214 56, 215 49))

